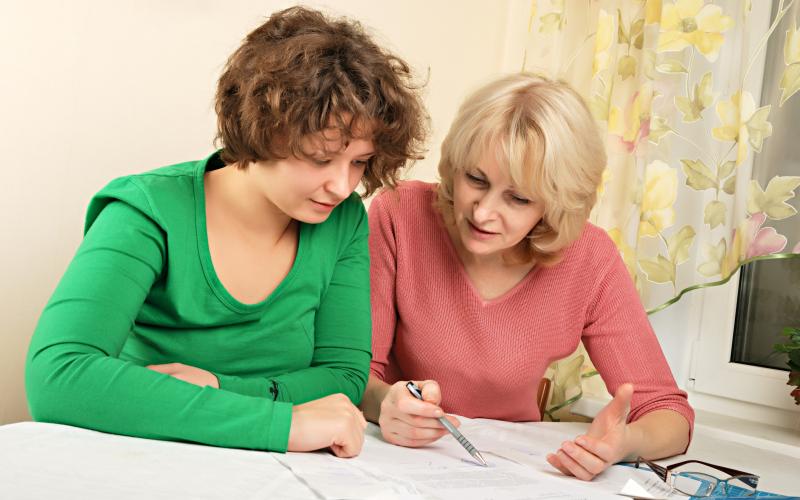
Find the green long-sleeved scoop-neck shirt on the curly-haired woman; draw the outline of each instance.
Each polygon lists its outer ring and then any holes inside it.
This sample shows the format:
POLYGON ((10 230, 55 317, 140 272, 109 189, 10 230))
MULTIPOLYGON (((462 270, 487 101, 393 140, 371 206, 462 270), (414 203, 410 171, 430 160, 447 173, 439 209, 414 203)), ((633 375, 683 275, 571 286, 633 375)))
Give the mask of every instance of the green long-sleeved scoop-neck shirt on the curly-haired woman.
POLYGON ((263 302, 243 304, 208 249, 203 174, 221 166, 214 154, 122 177, 92 199, 83 243, 31 340, 36 420, 285 451, 292 403, 340 392, 358 404, 371 331, 360 199, 299 224, 289 274, 263 302), (214 373, 220 389, 144 367, 171 362, 214 373))

